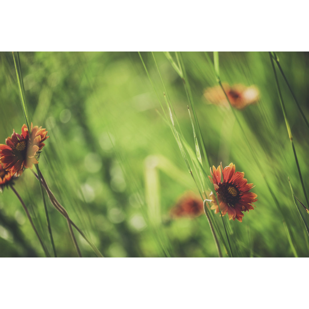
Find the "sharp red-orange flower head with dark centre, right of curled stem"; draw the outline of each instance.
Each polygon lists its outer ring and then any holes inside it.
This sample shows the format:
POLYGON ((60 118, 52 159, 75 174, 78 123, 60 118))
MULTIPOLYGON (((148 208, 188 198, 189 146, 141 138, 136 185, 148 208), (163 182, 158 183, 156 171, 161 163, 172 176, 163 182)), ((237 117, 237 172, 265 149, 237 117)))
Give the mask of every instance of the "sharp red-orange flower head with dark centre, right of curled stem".
MULTIPOLYGON (((235 164, 233 163, 224 169, 222 165, 217 169, 213 166, 212 171, 210 168, 210 174, 211 177, 208 177, 214 183, 222 216, 227 213, 230 220, 237 219, 242 222, 242 211, 249 213, 249 210, 254 209, 252 203, 257 201, 257 195, 249 192, 253 188, 253 184, 247 183, 247 179, 243 178, 243 172, 235 172, 235 164), (221 169, 223 170, 223 181, 221 181, 221 169)), ((210 193, 210 198, 214 203, 210 209, 214 209, 217 214, 219 207, 214 193, 210 193)))

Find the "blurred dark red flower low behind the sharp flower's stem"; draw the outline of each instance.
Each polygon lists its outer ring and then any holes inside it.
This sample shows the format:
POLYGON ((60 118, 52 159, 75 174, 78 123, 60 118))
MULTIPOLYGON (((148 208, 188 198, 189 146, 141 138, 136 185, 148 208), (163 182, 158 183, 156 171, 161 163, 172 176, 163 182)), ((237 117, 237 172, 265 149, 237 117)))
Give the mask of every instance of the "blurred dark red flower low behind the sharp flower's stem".
POLYGON ((204 212, 203 201, 192 192, 184 193, 176 205, 171 209, 170 215, 172 218, 194 218, 198 217, 204 212))

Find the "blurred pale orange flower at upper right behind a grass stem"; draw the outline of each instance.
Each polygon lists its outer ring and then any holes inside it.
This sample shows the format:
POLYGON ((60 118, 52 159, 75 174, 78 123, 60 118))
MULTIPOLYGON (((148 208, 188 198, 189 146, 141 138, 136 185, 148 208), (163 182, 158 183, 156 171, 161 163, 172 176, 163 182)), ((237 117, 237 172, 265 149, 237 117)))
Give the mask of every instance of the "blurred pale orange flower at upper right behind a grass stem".
MULTIPOLYGON (((223 83, 222 87, 231 103, 235 108, 242 109, 247 105, 255 103, 259 99, 259 90, 256 86, 246 87, 244 85, 230 86, 223 83)), ((204 91, 205 98, 212 104, 228 107, 229 103, 220 86, 207 88, 204 91)))

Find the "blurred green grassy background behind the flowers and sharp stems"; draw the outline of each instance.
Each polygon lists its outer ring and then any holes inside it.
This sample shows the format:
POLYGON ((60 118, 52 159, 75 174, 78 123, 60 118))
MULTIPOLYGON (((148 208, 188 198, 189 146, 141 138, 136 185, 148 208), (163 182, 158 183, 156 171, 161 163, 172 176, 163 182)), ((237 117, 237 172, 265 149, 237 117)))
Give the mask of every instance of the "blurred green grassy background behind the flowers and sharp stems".
MULTIPOLYGON (((182 134, 195 152, 183 81, 165 55, 155 52, 164 90, 152 54, 141 55, 161 102, 164 102, 163 92, 167 91, 182 134)), ((175 53, 170 55, 176 59, 175 53)), ((209 55, 213 61, 212 54, 209 55)), ((308 119, 308 54, 277 55, 308 119)), ((197 193, 197 188, 171 129, 157 113, 161 107, 138 53, 36 52, 19 53, 19 56, 29 117, 34 125, 46 128, 50 136, 40 156, 40 170, 72 220, 102 254, 167 256, 164 247, 170 256, 218 256, 205 216, 178 220, 169 217, 169 210, 178 197, 188 190, 197 193), (155 158, 157 164, 153 165, 155 158), (155 227, 148 211, 147 166, 148 176, 151 170, 156 177, 151 178, 156 186, 148 187, 152 194, 156 192, 156 200, 151 200, 157 207, 155 227)), ((207 104, 203 97, 206 87, 217 85, 211 64, 204 53, 181 53, 181 57, 210 165, 217 167, 222 161, 224 167, 233 162, 236 171, 244 171, 248 182, 256 185, 252 189, 258 195, 256 208, 244 215, 242 223, 229 222, 227 216, 223 217, 235 255, 294 256, 282 216, 233 113, 207 104)), ((254 84, 260 89, 257 104, 235 113, 288 218, 286 225, 290 227, 297 255, 308 256, 308 235, 295 209, 288 176, 294 195, 304 204, 305 197, 286 134, 269 55, 219 53, 219 59, 222 82, 254 84)), ((20 133, 25 122, 11 53, 0 53, 0 79, 0 143, 4 143, 13 128, 20 133)), ((308 130, 279 74, 278 79, 307 188, 308 130)), ((197 173, 194 176, 199 177, 197 173)), ((47 239, 40 188, 31 171, 24 171, 15 188, 29 209, 33 208, 37 220, 41 218, 42 234, 47 239)), ((66 220, 50 203, 47 206, 57 255, 76 256, 66 220)), ((308 223, 306 211, 302 207, 299 210, 308 223)), ((1 256, 44 256, 19 201, 10 190, 0 195, 0 214, 4 218, 0 220, 1 256)), ((213 217, 222 226, 221 218, 213 217)), ((77 236, 77 240, 83 256, 95 256, 82 238, 77 236)))

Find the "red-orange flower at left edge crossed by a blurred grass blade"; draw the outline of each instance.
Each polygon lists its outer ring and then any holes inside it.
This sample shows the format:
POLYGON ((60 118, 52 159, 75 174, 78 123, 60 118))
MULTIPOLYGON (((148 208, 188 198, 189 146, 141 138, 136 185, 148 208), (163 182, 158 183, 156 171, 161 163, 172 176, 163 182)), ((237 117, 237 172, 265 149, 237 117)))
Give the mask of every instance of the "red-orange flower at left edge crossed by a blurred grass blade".
POLYGON ((3 168, 10 171, 13 176, 23 173, 23 168, 32 168, 32 164, 39 163, 36 160, 36 155, 45 145, 43 142, 49 136, 46 136, 47 131, 38 127, 32 128, 31 136, 29 136, 28 128, 24 124, 21 128, 21 135, 15 133, 11 137, 6 138, 6 145, 0 144, 0 162, 3 163, 3 168))

